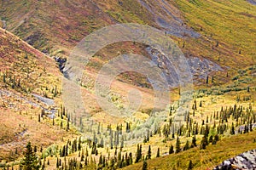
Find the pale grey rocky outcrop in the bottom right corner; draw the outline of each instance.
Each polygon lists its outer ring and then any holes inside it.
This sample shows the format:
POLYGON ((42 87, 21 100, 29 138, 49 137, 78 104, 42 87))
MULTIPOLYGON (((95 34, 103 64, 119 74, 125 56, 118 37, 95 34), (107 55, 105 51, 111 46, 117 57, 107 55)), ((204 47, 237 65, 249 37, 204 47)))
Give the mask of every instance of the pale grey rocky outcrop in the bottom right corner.
POLYGON ((223 161, 222 164, 214 167, 214 170, 218 169, 256 169, 256 149, 223 161))

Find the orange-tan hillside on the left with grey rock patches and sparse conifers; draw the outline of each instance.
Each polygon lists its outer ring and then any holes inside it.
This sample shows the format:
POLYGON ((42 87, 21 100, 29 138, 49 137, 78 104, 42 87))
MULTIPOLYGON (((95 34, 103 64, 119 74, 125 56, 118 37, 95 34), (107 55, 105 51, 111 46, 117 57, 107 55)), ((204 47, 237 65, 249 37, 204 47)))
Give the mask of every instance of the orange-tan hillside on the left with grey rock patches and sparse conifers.
POLYGON ((3 29, 0 42, 0 160, 4 162, 22 155, 28 141, 46 148, 71 133, 59 127, 57 117, 55 126, 49 118, 61 105, 61 74, 53 59, 3 29))

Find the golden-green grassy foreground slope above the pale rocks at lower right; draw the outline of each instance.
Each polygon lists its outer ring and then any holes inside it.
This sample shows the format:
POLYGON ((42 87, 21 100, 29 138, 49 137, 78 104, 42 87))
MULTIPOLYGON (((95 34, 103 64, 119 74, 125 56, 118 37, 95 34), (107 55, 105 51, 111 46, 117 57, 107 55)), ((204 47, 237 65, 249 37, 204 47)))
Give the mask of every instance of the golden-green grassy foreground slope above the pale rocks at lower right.
MULTIPOLYGON (((221 140, 216 145, 209 145, 207 150, 194 148, 170 156, 162 156, 148 160, 148 170, 150 169, 188 169, 189 161, 193 163, 193 169, 212 169, 222 161, 241 154, 246 150, 253 150, 256 131, 248 134, 239 134, 221 140)), ((125 167, 123 169, 142 169, 143 162, 125 167)))

